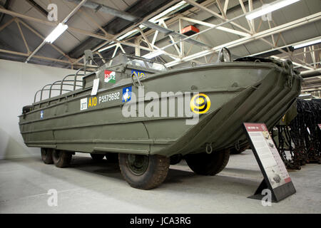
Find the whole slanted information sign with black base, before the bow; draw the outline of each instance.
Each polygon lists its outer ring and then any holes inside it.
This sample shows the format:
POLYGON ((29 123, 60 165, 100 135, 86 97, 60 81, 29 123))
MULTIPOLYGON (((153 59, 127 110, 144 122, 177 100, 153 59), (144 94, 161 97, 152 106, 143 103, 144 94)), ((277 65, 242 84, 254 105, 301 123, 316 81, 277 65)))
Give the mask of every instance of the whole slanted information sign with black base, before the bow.
POLYGON ((262 199, 263 189, 270 189, 272 201, 279 202, 294 194, 295 187, 264 123, 244 123, 245 132, 264 179, 251 198, 262 199))

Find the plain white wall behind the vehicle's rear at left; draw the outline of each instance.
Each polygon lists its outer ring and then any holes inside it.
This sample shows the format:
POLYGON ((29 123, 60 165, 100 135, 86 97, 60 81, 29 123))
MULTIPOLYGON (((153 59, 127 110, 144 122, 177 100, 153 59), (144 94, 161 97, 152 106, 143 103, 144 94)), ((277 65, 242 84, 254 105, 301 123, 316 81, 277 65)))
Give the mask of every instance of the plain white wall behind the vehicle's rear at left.
POLYGON ((24 145, 18 115, 23 106, 34 102, 34 94, 42 86, 75 72, 0 59, 0 159, 40 155, 39 148, 24 145))

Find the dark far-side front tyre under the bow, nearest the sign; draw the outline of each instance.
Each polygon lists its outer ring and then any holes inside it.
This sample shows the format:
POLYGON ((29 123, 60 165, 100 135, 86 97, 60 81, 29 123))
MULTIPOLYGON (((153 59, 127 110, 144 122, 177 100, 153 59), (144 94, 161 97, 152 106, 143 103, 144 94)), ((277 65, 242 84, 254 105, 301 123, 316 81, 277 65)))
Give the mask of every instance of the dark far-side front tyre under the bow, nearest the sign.
POLYGON ((230 150, 213 151, 210 154, 205 152, 186 155, 185 160, 193 172, 198 175, 216 175, 228 165, 230 150))

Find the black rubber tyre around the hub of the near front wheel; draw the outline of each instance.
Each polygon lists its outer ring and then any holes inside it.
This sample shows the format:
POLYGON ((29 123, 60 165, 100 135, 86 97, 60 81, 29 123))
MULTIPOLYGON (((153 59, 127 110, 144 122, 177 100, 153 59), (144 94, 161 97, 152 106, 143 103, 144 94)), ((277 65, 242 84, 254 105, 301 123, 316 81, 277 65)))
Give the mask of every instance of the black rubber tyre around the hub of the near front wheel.
POLYGON ((119 154, 119 167, 121 175, 131 187, 141 190, 150 190, 158 187, 165 180, 169 166, 170 158, 161 155, 148 155, 148 167, 141 175, 133 173, 128 165, 128 154, 119 154))

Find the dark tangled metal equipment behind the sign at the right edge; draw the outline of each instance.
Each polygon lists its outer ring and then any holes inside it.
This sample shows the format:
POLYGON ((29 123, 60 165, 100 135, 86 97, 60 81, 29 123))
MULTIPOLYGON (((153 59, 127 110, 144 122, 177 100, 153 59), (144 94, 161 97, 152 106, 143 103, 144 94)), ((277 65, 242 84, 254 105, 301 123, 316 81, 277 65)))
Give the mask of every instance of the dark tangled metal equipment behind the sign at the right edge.
POLYGON ((321 163, 320 114, 320 99, 297 99, 297 116, 288 124, 282 125, 281 120, 276 126, 273 138, 287 169, 300 170, 301 165, 321 163))

